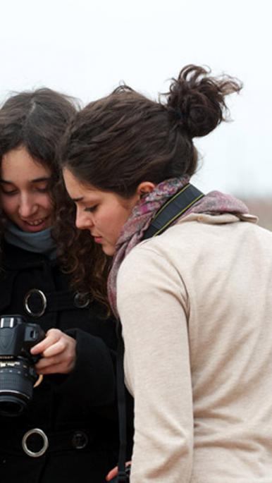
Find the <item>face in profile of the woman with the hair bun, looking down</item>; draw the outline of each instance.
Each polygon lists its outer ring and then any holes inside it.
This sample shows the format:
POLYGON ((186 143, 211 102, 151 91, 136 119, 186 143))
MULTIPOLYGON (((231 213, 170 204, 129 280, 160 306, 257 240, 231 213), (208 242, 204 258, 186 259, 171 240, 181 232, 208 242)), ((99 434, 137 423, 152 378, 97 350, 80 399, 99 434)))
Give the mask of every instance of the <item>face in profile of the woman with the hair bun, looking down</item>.
POLYGON ((83 185, 68 169, 63 170, 63 178, 77 208, 76 226, 89 230, 104 253, 113 255, 122 228, 140 196, 136 193, 126 199, 113 192, 97 190, 92 185, 83 185))

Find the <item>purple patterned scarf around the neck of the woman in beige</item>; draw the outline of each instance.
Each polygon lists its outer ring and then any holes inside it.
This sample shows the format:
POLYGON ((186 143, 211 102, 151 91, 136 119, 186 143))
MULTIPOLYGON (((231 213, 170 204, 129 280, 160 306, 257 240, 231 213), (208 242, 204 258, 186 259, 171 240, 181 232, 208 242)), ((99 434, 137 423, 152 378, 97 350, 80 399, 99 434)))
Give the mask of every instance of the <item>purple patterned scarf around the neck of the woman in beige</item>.
MULTIPOLYGON (((116 307, 116 279, 120 264, 130 250, 140 243, 144 231, 147 230, 161 206, 166 203, 168 198, 175 195, 176 192, 180 191, 189 182, 190 177, 183 176, 182 178, 171 178, 170 180, 159 183, 152 192, 147 193, 147 195, 144 195, 140 199, 140 202, 136 204, 128 221, 123 226, 123 231, 116 243, 116 253, 113 257, 113 264, 108 279, 109 302, 116 316, 118 316, 116 307)), ((182 216, 187 216, 189 213, 207 213, 214 215, 222 213, 245 214, 248 213, 248 209, 242 201, 236 200, 233 196, 224 195, 219 191, 211 191, 208 195, 196 202, 182 216)), ((175 223, 177 221, 175 220, 175 223)))

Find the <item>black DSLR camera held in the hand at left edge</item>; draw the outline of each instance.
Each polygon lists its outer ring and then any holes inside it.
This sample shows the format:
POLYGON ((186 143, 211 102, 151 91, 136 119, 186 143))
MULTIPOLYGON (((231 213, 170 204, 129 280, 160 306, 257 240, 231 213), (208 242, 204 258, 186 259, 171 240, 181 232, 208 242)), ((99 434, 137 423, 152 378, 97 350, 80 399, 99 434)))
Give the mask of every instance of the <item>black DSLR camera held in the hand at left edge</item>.
POLYGON ((38 324, 21 315, 0 316, 0 415, 18 416, 32 400, 39 378, 34 365, 40 356, 30 349, 45 337, 38 324))

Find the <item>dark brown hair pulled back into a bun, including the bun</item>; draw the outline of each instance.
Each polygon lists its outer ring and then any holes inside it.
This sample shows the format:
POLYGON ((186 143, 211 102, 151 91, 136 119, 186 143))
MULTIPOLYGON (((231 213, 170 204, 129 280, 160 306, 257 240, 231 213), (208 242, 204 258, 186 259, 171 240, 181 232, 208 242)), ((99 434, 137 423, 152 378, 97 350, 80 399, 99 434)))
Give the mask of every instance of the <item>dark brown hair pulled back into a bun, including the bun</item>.
POLYGON ((192 175, 197 168, 192 139, 226 120, 225 95, 240 89, 237 80, 213 78, 199 66, 183 68, 159 102, 121 85, 73 118, 61 164, 83 183, 123 197, 142 181, 192 175))

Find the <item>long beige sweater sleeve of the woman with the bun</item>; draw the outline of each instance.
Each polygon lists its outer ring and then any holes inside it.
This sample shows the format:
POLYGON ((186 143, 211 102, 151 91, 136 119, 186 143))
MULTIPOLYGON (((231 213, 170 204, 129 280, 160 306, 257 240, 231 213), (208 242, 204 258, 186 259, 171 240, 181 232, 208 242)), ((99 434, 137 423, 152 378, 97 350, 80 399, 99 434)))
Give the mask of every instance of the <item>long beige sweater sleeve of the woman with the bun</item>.
POLYGON ((187 483, 193 416, 188 297, 166 257, 136 247, 120 267, 117 305, 125 377, 135 398, 130 483, 187 483))

